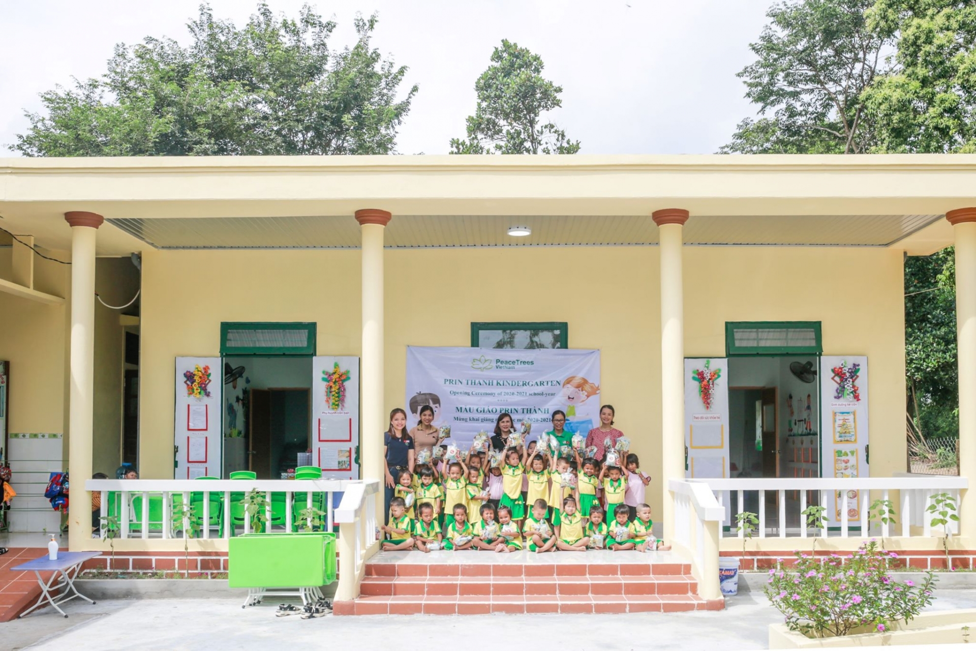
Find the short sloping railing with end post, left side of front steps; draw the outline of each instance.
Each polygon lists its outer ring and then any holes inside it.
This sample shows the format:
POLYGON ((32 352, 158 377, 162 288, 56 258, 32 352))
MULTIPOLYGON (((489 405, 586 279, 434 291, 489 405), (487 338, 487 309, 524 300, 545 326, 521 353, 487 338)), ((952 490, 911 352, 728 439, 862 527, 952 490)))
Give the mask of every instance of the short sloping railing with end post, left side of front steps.
POLYGON ((336 509, 339 523, 339 586, 336 601, 359 596, 366 560, 380 549, 377 512, 383 499, 379 481, 349 482, 336 509))

